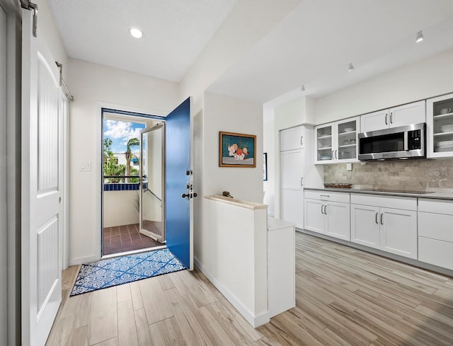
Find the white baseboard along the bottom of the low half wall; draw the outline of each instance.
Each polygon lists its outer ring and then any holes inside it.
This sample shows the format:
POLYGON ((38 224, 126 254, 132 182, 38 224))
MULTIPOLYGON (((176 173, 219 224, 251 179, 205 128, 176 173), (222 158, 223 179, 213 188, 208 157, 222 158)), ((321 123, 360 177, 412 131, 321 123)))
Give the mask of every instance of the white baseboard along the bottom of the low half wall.
POLYGON ((236 296, 229 292, 229 290, 222 284, 222 282, 219 282, 219 280, 214 277, 214 275, 211 274, 209 270, 207 270, 197 258, 193 258, 193 262, 195 263, 195 266, 207 277, 207 279, 212 282, 212 284, 219 290, 220 293, 223 294, 223 296, 231 303, 236 310, 241 313, 243 318, 246 319, 248 323, 250 323, 253 328, 259 327, 260 325, 263 325, 265 323, 268 323, 270 318, 269 318, 269 313, 266 311, 265 313, 259 315, 259 316, 253 316, 253 313, 248 311, 248 308, 246 306, 243 306, 241 302, 236 299, 236 296))

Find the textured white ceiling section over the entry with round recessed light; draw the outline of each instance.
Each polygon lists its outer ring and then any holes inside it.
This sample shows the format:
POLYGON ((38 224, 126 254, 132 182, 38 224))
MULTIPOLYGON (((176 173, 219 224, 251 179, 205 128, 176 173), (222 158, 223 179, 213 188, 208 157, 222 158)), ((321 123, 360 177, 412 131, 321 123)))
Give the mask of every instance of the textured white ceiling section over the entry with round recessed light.
POLYGON ((49 0, 69 57, 168 81, 185 76, 236 2, 49 0))

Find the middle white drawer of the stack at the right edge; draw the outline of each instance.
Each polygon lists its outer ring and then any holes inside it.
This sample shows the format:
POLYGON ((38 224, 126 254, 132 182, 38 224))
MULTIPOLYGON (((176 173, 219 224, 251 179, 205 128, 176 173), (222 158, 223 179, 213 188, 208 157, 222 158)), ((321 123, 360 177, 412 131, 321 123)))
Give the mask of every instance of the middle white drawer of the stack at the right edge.
POLYGON ((453 243, 453 215, 418 212, 418 236, 453 243))

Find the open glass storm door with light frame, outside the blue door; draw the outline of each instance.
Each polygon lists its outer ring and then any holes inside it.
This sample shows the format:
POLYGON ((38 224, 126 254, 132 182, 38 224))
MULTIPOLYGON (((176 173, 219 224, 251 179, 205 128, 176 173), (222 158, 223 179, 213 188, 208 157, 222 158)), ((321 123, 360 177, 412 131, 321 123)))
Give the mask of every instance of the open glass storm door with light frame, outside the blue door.
POLYGON ((139 229, 145 236, 165 243, 165 123, 140 134, 139 229))

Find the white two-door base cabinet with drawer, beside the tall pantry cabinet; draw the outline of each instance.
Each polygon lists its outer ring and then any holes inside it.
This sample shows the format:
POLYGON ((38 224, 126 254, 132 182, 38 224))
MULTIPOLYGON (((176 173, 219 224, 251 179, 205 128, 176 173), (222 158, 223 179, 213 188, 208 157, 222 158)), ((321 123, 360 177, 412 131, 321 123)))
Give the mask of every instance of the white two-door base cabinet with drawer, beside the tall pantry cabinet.
POLYGON ((306 190, 305 229, 350 241, 349 192, 306 190))

